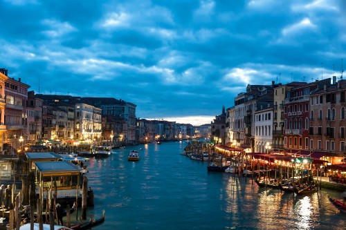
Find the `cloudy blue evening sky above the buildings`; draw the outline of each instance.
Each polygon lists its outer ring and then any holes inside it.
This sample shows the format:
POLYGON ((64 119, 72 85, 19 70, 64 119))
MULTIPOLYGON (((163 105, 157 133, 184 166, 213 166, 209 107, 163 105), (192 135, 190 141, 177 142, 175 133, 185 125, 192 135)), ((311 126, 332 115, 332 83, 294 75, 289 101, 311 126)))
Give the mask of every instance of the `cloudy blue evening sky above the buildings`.
POLYGON ((36 93, 124 99, 140 118, 209 123, 247 84, 346 68, 343 0, 0 0, 0 10, 9 77, 36 93))

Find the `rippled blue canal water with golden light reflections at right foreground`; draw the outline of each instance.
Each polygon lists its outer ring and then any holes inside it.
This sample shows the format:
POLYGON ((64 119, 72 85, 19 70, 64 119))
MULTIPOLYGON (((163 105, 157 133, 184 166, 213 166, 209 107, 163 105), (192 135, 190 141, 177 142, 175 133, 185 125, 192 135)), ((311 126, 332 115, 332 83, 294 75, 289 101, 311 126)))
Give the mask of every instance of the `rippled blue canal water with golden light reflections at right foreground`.
POLYGON ((259 188, 251 178, 207 171, 207 162, 181 155, 186 142, 116 149, 91 159, 87 174, 95 192, 88 217, 106 221, 95 229, 345 229, 346 215, 318 191, 298 197, 259 188), (132 149, 139 162, 128 162, 132 149))

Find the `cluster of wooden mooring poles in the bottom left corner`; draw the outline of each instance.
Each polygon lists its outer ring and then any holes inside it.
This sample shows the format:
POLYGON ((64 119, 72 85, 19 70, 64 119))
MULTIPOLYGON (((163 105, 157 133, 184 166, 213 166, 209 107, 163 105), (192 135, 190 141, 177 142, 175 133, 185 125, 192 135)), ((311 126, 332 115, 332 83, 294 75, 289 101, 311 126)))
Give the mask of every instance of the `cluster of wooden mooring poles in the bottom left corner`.
MULTIPOLYGON (((34 210, 35 200, 37 200, 37 223, 39 224, 39 230, 43 230, 44 218, 46 224, 50 224, 51 230, 54 230, 55 223, 58 224, 57 220, 57 183, 54 181, 53 186, 50 186, 46 192, 46 210, 44 212, 44 188, 41 186, 39 191, 39 199, 36 199, 35 192, 35 182, 31 180, 31 184, 29 186, 29 205, 30 205, 30 230, 34 229, 34 210), (54 191, 54 193, 53 193, 54 191), (48 218, 48 216, 50 218, 48 218), (51 218, 54 216, 54 218, 51 218), (49 222, 48 222, 49 220, 49 222)), ((75 210, 76 210, 76 220, 78 220, 78 190, 76 189, 76 202, 75 202, 75 210)), ((88 190, 88 179, 83 177, 82 184, 82 220, 86 220, 86 201, 87 201, 87 191, 88 190)), ((9 229, 17 229, 19 230, 21 226, 21 211, 19 207, 21 205, 22 194, 18 193, 15 197, 15 184, 12 184, 12 202, 10 204, 10 226, 9 229), (15 202, 15 205, 13 203, 15 202), (15 228, 16 227, 16 228, 15 228)), ((28 206, 27 206, 28 207, 28 206)), ((67 204, 66 207, 66 227, 71 227, 71 213, 70 213, 70 205, 67 204)), ((4 213, 3 209, 3 213, 4 213)))

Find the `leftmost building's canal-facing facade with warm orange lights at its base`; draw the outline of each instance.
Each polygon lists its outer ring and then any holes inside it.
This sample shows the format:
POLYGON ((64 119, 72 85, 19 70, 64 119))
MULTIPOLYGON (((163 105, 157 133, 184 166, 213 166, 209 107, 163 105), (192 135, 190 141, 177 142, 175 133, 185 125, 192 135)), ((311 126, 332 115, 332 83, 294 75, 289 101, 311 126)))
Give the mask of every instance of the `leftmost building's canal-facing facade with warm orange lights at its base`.
POLYGON ((7 128, 6 144, 19 148, 19 137, 26 137, 26 101, 28 99, 28 86, 13 78, 5 83, 6 110, 5 125, 7 128))

